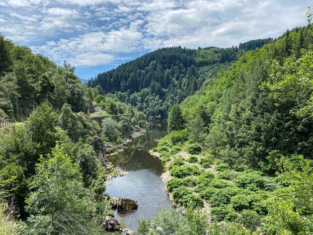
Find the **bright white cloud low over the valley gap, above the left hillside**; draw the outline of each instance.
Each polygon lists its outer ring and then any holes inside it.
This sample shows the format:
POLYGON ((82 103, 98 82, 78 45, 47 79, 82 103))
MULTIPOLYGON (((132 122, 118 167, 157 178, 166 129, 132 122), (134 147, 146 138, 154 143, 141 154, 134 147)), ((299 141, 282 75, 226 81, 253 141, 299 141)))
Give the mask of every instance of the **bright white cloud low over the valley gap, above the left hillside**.
POLYGON ((67 60, 77 67, 103 65, 118 59, 116 53, 129 53, 139 50, 141 32, 137 27, 141 22, 134 22, 129 28, 120 28, 108 33, 90 32, 58 42, 48 41, 43 46, 32 47, 35 52, 42 52, 57 63, 67 60))

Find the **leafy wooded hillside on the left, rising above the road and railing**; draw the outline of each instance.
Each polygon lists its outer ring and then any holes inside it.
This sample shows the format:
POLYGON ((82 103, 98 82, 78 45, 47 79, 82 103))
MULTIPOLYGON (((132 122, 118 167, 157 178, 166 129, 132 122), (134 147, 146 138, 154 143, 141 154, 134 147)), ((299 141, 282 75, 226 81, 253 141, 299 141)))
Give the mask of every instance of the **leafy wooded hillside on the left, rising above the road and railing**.
POLYGON ((1 35, 0 65, 1 117, 27 117, 34 107, 45 101, 57 109, 68 103, 73 111, 87 111, 83 86, 71 65, 57 66, 1 35))

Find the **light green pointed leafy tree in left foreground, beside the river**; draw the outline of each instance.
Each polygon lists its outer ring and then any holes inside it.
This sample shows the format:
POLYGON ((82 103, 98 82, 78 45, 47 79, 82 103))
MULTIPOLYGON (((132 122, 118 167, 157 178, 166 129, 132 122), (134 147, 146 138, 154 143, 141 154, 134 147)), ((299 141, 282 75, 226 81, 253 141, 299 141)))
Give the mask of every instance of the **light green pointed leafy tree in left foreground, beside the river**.
POLYGON ((53 215, 62 210, 83 206, 82 177, 77 163, 63 154, 57 145, 51 156, 41 158, 27 198, 27 211, 33 215, 53 215))

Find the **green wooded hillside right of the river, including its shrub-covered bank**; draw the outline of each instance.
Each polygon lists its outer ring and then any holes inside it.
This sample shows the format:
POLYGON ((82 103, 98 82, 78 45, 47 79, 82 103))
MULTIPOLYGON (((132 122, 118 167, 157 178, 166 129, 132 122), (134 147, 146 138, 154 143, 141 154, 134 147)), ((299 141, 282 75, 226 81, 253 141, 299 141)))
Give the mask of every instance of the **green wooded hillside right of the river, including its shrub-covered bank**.
POLYGON ((311 25, 287 30, 171 108, 154 151, 177 205, 227 222, 209 234, 312 234, 312 45, 311 25))

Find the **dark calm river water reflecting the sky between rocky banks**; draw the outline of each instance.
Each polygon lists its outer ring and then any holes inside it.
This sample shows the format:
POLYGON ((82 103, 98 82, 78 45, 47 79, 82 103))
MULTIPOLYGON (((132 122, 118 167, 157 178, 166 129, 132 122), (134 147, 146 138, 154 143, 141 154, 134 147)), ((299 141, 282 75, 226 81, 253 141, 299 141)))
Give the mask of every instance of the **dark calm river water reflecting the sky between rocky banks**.
POLYGON ((137 200, 138 209, 132 212, 115 211, 118 221, 123 221, 128 229, 137 231, 138 220, 149 220, 158 214, 161 208, 171 208, 165 186, 159 178, 163 165, 157 157, 149 154, 156 147, 156 139, 166 135, 165 124, 150 127, 148 132, 131 142, 129 149, 111 156, 114 166, 128 171, 125 176, 108 180, 106 193, 111 197, 128 197, 137 200))

